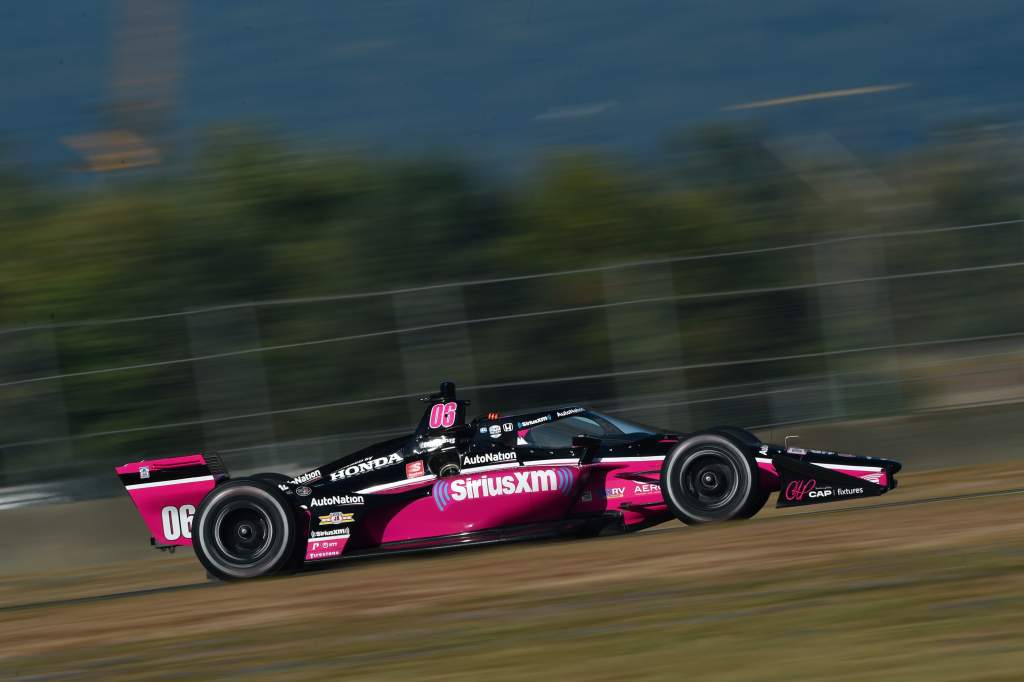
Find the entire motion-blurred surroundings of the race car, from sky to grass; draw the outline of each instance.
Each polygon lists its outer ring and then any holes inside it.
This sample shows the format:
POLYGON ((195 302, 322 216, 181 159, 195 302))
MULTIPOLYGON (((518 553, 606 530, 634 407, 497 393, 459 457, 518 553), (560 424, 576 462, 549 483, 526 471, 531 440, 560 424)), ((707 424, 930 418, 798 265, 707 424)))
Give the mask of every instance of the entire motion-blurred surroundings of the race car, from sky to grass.
POLYGON ((1012 0, 0 3, 0 678, 1019 679, 1021 36, 1012 0), (445 379, 901 485, 223 585, 113 470, 306 471, 445 379))

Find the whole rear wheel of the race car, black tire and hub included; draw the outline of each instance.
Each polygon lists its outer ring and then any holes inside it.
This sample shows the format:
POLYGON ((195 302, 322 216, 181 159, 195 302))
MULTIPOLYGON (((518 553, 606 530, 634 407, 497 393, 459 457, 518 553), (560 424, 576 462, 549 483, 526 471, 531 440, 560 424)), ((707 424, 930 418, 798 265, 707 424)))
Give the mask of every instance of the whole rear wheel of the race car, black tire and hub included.
POLYGON ((289 566, 297 535, 295 511, 274 483, 240 478, 203 500, 193 522, 193 548, 220 580, 262 578, 289 566))

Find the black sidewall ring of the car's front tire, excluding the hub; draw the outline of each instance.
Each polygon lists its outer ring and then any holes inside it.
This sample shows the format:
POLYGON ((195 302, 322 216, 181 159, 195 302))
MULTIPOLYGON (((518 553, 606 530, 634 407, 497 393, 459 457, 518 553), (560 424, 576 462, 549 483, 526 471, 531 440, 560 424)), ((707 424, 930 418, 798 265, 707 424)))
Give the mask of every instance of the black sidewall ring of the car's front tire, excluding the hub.
POLYGON ((662 489, 669 510, 676 518, 687 524, 743 518, 752 502, 761 494, 754 457, 733 439, 716 433, 693 435, 669 453, 662 465, 662 489), (737 486, 732 499, 712 511, 696 509, 687 504, 680 480, 686 464, 700 455, 703 449, 709 447, 727 457, 733 464, 737 476, 737 486))

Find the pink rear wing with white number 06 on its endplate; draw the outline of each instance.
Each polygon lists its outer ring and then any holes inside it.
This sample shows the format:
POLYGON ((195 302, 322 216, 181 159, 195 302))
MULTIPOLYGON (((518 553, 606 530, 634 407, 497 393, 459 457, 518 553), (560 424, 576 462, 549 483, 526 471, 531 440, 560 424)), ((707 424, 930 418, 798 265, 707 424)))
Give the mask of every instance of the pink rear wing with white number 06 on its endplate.
POLYGON ((191 545, 196 509, 218 482, 228 478, 216 455, 142 460, 115 471, 157 547, 191 545))

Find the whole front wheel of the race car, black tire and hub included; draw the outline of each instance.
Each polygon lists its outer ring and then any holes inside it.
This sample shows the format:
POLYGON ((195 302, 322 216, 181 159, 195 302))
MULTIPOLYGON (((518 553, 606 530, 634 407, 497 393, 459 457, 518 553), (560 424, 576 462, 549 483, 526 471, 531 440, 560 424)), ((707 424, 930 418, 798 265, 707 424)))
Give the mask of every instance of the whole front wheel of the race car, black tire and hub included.
POLYGON ((698 433, 676 445, 662 464, 669 510, 687 525, 756 514, 768 495, 752 451, 721 433, 698 433))

